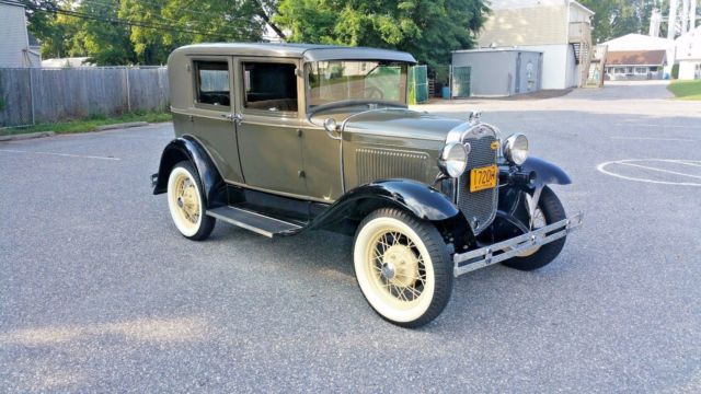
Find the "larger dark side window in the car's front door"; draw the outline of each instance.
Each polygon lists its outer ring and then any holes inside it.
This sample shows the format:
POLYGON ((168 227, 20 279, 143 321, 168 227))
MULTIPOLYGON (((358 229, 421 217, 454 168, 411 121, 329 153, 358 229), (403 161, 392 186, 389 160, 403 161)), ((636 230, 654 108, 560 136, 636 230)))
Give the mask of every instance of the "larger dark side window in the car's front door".
POLYGON ((290 63, 244 62, 243 107, 297 112, 297 67, 290 63))

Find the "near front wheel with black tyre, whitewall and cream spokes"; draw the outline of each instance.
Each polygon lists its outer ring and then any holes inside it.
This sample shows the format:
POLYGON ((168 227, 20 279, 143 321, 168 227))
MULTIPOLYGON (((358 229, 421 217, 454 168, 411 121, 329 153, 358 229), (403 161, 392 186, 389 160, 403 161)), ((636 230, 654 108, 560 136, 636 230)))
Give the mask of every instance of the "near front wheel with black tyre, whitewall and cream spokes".
POLYGON ((392 208, 368 215, 355 235, 353 259, 358 286, 384 320, 418 327, 446 308, 452 271, 436 228, 392 208))

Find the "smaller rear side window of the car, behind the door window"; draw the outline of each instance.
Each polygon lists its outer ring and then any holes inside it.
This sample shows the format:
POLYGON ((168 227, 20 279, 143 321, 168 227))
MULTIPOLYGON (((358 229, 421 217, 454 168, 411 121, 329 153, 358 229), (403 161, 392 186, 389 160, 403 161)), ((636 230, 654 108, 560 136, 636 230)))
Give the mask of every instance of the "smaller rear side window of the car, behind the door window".
MULTIPOLYGON (((195 61, 196 97, 198 104, 231 106, 229 95, 229 63, 227 61, 195 61)), ((225 108, 226 107, 226 108, 225 108)))

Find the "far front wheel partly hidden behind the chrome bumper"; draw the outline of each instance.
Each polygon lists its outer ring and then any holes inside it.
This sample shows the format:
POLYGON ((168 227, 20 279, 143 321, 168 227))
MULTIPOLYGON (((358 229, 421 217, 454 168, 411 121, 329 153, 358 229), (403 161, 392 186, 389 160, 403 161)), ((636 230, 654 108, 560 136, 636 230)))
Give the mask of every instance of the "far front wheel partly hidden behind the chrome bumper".
MULTIPOLYGON (((565 209, 555 193, 548 186, 543 188, 538 200, 538 207, 533 212, 533 230, 566 219, 565 209)), ((542 246, 533 246, 524 251, 516 257, 504 262, 504 265, 520 270, 533 270, 550 264, 565 245, 566 236, 542 246)))

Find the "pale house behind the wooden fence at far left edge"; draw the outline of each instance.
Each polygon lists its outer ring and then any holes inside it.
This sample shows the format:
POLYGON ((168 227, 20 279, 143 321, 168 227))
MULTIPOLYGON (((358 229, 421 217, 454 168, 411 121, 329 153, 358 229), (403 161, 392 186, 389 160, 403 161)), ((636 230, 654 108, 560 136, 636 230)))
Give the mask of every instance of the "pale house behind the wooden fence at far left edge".
POLYGON ((0 67, 42 67, 42 55, 26 31, 24 5, 0 0, 0 67))

